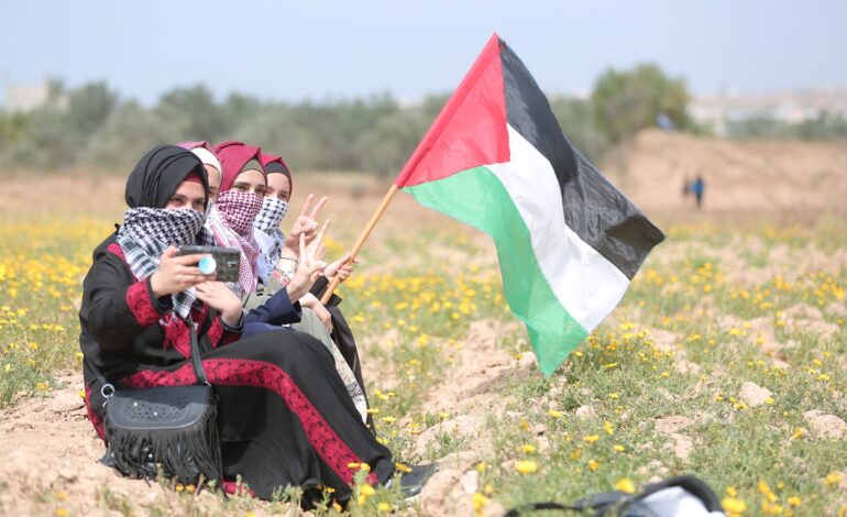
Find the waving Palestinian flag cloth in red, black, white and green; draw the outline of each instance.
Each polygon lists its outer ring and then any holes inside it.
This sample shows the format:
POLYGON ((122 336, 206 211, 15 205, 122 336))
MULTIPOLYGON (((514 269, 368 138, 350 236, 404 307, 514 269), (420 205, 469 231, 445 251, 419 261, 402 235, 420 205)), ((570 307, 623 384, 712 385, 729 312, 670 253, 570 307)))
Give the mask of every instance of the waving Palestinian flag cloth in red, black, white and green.
POLYGON ((552 374, 664 235, 562 133, 494 34, 396 179, 494 239, 503 287, 552 374))

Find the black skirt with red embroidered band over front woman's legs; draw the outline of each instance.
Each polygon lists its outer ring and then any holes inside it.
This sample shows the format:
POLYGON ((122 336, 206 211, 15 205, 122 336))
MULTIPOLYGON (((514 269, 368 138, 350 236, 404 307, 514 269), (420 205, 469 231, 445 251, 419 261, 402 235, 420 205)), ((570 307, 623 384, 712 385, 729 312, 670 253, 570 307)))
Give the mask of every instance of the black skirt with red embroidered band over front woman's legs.
MULTIPOLYGON (((202 365, 219 396, 224 479, 240 477, 265 499, 293 485, 328 486, 339 501, 351 495, 358 471, 351 463, 370 465, 371 483, 391 479, 391 451, 362 422, 332 355, 315 338, 263 332, 204 353, 202 365)), ((195 382, 185 361, 141 371, 120 384, 141 388, 195 382)), ((89 408, 99 408, 99 386, 91 388, 89 408)))

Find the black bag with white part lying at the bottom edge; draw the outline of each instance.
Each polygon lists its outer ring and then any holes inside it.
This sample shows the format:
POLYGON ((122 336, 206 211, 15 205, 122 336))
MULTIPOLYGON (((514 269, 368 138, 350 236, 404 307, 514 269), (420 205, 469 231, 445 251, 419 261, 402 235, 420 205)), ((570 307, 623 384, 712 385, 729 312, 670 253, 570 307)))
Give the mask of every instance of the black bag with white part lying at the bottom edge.
POLYGON ((724 515, 715 492, 703 480, 693 475, 670 477, 657 483, 645 485, 641 492, 625 494, 623 492, 604 492, 594 494, 572 504, 531 503, 508 510, 505 517, 518 517, 525 512, 568 510, 594 517, 692 517, 694 515, 724 515), (656 497, 667 492, 670 497, 656 497), (653 496, 653 497, 651 497, 653 496), (691 513, 691 501, 683 505, 682 498, 693 498, 695 506, 702 509, 691 513), (660 501, 661 499, 661 501, 660 501), (713 514, 714 513, 714 514, 713 514))

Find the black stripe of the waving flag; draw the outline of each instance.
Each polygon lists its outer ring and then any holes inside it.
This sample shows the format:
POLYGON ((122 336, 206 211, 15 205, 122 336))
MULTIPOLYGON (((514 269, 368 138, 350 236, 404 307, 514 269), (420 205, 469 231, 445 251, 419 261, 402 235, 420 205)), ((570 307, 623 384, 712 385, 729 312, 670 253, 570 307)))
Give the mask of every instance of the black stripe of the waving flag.
POLYGON ((632 279, 664 234, 571 145, 547 97, 503 42, 501 59, 508 123, 552 164, 562 193, 564 222, 632 279))

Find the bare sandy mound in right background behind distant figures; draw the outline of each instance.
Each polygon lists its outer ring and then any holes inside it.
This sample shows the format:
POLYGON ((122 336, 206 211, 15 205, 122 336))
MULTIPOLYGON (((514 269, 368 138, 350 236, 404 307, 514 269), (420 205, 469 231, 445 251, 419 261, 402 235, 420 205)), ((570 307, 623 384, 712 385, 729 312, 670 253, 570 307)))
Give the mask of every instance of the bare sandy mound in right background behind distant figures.
MULTIPOLYGON (((843 211, 847 144, 727 141, 644 131, 603 170, 642 210, 682 210, 685 178, 702 175, 710 211, 843 211)), ((691 208, 691 207, 689 207, 691 208)))

